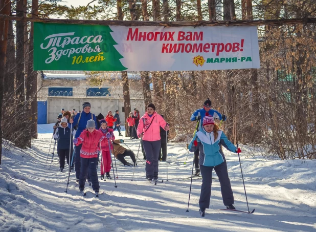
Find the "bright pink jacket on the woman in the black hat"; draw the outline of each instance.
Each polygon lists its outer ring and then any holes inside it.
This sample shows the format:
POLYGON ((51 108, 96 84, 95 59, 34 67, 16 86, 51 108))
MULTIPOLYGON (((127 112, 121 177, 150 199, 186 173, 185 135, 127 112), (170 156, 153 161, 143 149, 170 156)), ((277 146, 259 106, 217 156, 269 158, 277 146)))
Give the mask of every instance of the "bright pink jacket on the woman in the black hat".
POLYGON ((137 135, 139 136, 140 134, 144 132, 143 140, 145 141, 160 140, 160 126, 162 128, 165 128, 166 124, 167 122, 163 119, 162 116, 157 114, 157 112, 154 112, 151 117, 149 117, 149 115, 145 113, 144 116, 141 117, 140 123, 138 124, 137 135))

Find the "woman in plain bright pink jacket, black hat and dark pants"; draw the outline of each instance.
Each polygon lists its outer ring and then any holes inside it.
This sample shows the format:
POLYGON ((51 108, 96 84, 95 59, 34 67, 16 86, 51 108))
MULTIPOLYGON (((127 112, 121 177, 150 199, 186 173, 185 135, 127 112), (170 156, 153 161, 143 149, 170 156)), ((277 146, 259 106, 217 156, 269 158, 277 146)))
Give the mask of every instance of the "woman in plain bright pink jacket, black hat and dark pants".
POLYGON ((165 131, 169 126, 162 116, 155 112, 156 108, 153 103, 149 103, 146 113, 141 118, 137 134, 143 140, 143 146, 146 153, 146 179, 156 181, 158 179, 158 158, 161 147, 160 126, 165 131))

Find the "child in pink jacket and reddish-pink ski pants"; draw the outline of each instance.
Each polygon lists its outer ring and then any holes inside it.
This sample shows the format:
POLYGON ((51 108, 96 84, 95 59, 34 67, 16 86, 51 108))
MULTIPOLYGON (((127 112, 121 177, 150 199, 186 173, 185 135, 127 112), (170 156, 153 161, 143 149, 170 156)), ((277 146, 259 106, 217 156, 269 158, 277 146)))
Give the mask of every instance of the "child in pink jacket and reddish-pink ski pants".
POLYGON ((102 151, 102 159, 101 159, 101 179, 104 179, 104 172, 106 173, 106 178, 111 179, 110 176, 110 170, 111 170, 111 154, 110 149, 108 146, 108 141, 110 141, 111 151, 113 151, 113 145, 112 141, 115 139, 115 136, 113 134, 113 129, 107 128, 107 122, 104 119, 100 120, 100 129, 99 131, 103 134, 103 136, 106 136, 107 133, 109 133, 110 138, 105 138, 101 142, 101 147, 99 147, 100 152, 102 151), (103 166, 104 165, 104 166, 103 166))

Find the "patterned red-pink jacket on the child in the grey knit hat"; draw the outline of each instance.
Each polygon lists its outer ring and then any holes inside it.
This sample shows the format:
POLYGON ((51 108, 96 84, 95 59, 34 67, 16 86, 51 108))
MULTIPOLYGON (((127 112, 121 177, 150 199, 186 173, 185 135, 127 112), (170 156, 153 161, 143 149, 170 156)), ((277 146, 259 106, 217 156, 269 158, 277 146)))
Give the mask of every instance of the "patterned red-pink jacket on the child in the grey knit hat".
POLYGON ((94 130, 92 133, 88 132, 88 130, 84 130, 77 139, 78 143, 76 146, 82 143, 80 157, 95 158, 98 157, 98 145, 100 141, 105 139, 105 136, 103 136, 103 133, 97 130, 94 130))

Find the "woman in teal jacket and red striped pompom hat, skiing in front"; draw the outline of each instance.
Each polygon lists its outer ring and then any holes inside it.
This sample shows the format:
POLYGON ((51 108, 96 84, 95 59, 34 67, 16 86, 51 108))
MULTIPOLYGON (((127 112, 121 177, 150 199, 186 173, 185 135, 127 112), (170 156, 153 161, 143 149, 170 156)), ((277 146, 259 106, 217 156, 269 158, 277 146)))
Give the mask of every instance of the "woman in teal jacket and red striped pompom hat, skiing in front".
POLYGON ((205 116, 201 130, 195 133, 189 145, 190 152, 195 152, 198 148, 200 150, 199 164, 202 174, 202 186, 199 199, 199 212, 202 217, 205 215, 205 209, 210 206, 213 169, 218 176, 224 205, 228 209, 235 209, 227 163, 221 146, 224 146, 231 152, 241 153, 241 150, 237 149, 219 129, 219 126, 214 123, 213 117, 211 115, 205 116))

